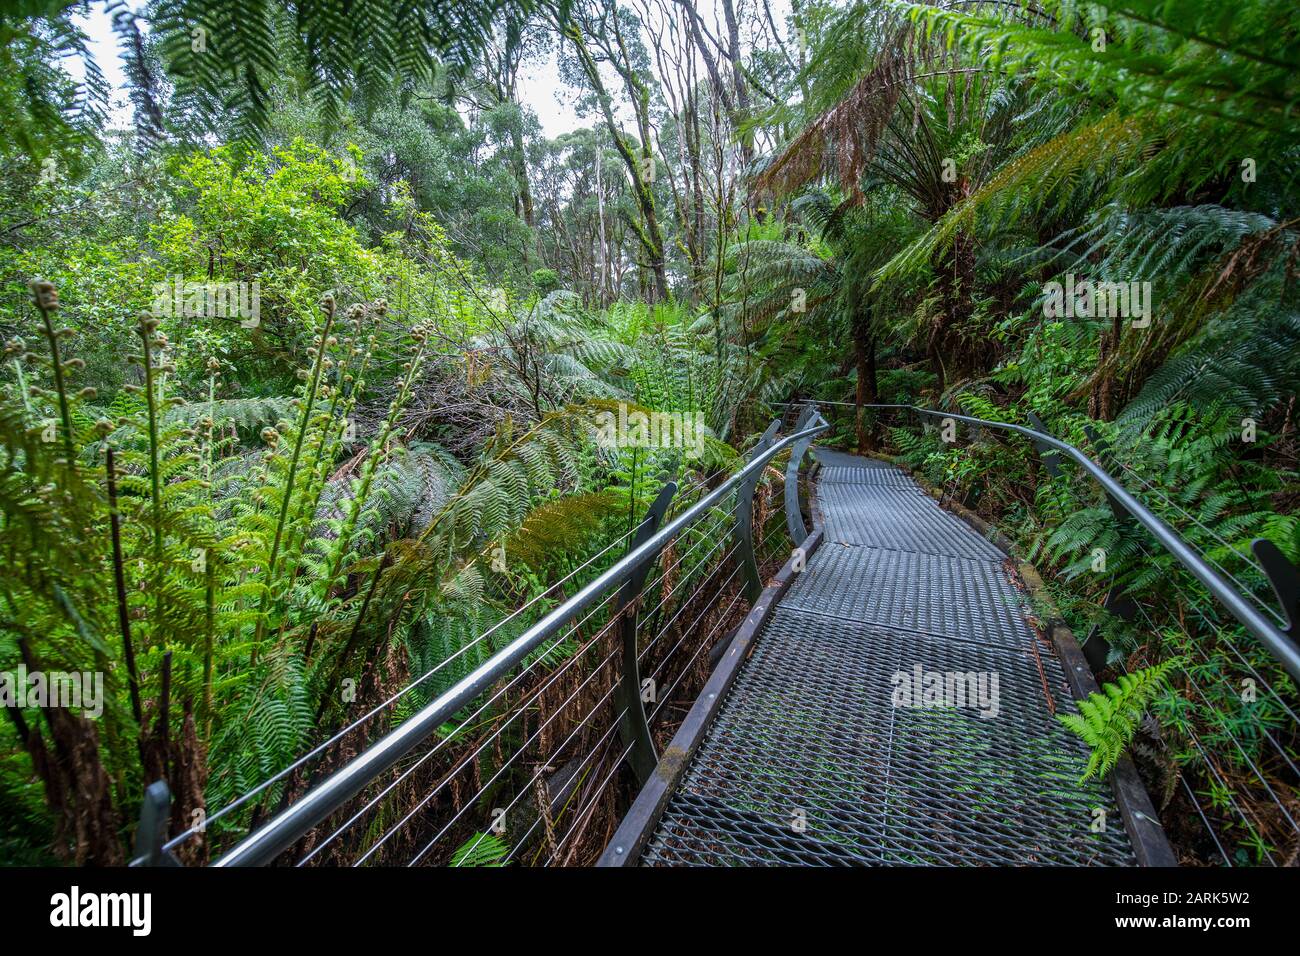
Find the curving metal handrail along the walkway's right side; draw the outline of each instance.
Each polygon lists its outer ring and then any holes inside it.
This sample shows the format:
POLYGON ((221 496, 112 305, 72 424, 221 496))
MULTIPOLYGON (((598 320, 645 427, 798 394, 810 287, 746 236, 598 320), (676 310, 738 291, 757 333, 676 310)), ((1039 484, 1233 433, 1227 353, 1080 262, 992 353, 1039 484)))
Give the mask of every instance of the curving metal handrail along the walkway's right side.
MULTIPOLYGON (((852 402, 818 401, 816 403, 836 405, 850 408, 857 407, 852 402)), ((1231 613, 1247 631, 1258 639, 1282 663, 1282 666, 1286 667, 1287 674, 1290 674, 1292 679, 1300 684, 1300 645, 1274 626, 1271 620, 1260 614, 1254 605, 1234 589, 1218 571, 1210 567, 1209 562, 1206 562, 1195 548, 1187 544, 1176 531, 1170 528, 1164 520, 1152 514, 1145 505, 1130 494, 1128 490, 1124 489, 1124 486, 1119 484, 1113 475, 1110 475, 1110 472, 1093 462, 1070 442, 1061 441, 1056 436, 1045 432, 1026 428, 1024 425, 1013 425, 1008 421, 988 421, 985 419, 976 419, 970 415, 959 415, 952 411, 920 408, 915 405, 863 405, 861 407, 913 411, 918 415, 930 415, 936 419, 953 419, 954 421, 966 421, 972 425, 1017 432, 1023 434, 1026 438, 1037 442, 1040 446, 1046 445, 1048 447, 1069 455, 1078 462, 1098 485, 1101 485, 1102 490, 1110 496, 1112 501, 1117 502, 1124 511, 1132 515, 1139 524, 1147 528, 1147 531, 1149 531, 1154 538, 1165 546, 1165 550, 1173 554, 1183 567, 1191 571, 1192 576, 1204 584, 1205 588, 1228 610, 1228 613, 1231 613)))

